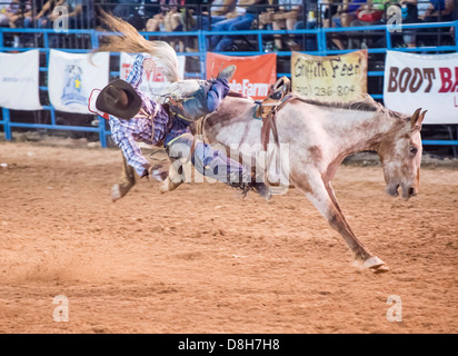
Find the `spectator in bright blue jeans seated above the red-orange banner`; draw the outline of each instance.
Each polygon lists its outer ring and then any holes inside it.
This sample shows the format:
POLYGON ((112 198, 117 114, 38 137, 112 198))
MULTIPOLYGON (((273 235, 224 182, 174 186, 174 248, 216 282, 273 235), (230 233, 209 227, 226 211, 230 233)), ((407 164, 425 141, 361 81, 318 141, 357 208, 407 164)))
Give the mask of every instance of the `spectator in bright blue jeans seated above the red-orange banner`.
MULTIPOLYGON (((243 31, 251 29, 252 22, 259 14, 260 4, 269 4, 267 0, 240 0, 237 2, 236 13, 228 13, 227 20, 215 23, 213 31, 243 31)), ((210 44, 213 51, 229 51, 232 49, 233 36, 212 36, 210 44)))

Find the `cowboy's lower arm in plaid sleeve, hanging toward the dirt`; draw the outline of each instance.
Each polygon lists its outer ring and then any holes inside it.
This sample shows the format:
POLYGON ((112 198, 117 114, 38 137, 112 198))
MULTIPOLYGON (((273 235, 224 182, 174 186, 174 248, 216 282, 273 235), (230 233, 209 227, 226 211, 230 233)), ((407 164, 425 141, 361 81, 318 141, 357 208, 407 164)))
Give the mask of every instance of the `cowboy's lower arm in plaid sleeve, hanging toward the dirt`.
POLYGON ((122 150, 128 165, 132 166, 140 177, 145 177, 148 176, 150 165, 133 139, 133 132, 135 129, 131 126, 111 125, 111 136, 118 147, 122 150))

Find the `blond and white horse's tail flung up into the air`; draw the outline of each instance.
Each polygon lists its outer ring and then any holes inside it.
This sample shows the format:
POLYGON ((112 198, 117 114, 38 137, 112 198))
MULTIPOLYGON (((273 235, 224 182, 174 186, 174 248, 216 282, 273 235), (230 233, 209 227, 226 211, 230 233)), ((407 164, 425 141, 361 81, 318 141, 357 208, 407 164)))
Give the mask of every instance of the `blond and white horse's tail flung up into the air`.
POLYGON ((155 61, 161 67, 163 76, 170 81, 179 80, 178 58, 175 49, 163 41, 148 41, 130 23, 101 10, 100 19, 109 30, 119 32, 107 36, 101 41, 97 52, 129 52, 129 53, 149 53, 155 61))

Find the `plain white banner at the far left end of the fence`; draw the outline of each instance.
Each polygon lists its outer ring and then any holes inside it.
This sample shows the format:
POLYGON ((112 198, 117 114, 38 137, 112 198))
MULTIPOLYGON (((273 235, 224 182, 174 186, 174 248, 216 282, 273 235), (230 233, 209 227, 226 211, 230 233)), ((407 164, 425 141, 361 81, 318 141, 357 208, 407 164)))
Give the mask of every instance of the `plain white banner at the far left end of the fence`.
POLYGON ((38 49, 23 53, 0 53, 0 107, 41 110, 38 87, 38 49))

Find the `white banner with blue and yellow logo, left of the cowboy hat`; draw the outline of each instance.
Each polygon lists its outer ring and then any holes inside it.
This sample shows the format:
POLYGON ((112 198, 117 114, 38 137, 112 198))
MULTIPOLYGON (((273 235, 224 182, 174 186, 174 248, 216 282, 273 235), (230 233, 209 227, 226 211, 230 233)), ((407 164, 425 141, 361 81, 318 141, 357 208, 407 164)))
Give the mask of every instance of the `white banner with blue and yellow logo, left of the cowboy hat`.
POLYGON ((92 89, 108 85, 109 52, 89 55, 50 50, 48 69, 49 100, 56 110, 91 113, 88 110, 92 89))

